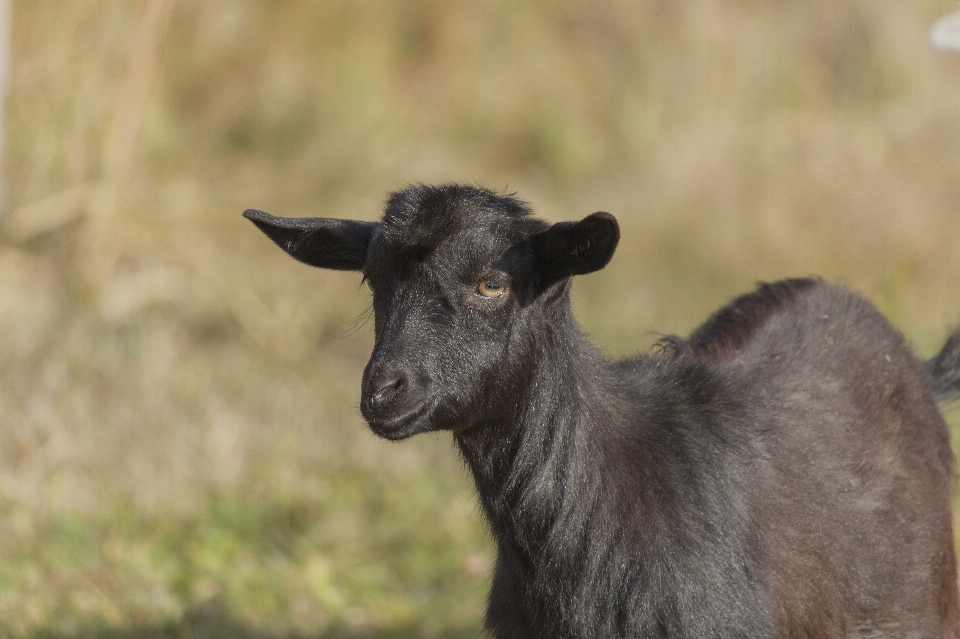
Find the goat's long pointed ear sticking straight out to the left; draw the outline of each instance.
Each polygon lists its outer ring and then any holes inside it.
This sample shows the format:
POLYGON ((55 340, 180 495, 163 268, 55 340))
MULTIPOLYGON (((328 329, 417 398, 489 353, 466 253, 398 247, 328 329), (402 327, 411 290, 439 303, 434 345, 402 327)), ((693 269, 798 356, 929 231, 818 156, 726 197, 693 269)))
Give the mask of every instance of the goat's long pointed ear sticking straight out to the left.
POLYGON ((247 209, 243 217, 257 225, 277 246, 295 259, 320 268, 359 271, 367 261, 367 246, 376 222, 326 217, 276 217, 247 209))

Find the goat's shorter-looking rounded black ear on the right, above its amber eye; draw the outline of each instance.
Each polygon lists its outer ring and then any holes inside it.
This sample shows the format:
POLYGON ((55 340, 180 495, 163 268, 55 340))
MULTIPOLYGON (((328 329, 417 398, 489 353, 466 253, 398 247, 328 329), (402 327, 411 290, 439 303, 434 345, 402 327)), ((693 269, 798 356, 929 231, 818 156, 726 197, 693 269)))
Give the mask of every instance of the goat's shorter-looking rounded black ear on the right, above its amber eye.
POLYGON ((542 291, 571 275, 599 271, 613 257, 619 241, 617 219, 603 212, 579 222, 558 222, 530 236, 537 288, 542 291))

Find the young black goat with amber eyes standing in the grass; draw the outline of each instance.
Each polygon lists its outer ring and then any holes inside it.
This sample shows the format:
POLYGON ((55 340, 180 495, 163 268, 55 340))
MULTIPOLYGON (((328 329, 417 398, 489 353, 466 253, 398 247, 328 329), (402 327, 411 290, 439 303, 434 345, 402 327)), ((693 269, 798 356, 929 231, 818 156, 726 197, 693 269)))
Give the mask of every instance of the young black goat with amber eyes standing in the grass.
POLYGON ((863 298, 787 280, 610 362, 568 296, 613 256, 607 213, 551 226, 446 185, 377 223, 244 215, 363 272, 360 410, 388 439, 453 432, 497 543, 494 637, 960 636, 935 403, 960 332, 925 368, 863 298))

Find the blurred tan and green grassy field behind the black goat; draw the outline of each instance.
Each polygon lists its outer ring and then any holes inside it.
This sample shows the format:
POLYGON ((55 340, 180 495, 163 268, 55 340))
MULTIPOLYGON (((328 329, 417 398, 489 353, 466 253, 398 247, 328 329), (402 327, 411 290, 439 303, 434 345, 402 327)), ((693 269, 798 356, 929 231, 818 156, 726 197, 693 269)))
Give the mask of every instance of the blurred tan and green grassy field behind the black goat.
POLYGON ((809 274, 933 354, 960 56, 927 30, 958 8, 12 1, 0 636, 481 636, 493 551, 449 437, 367 431, 366 289, 248 207, 369 220, 457 180, 607 210, 574 303, 611 355, 809 274))

